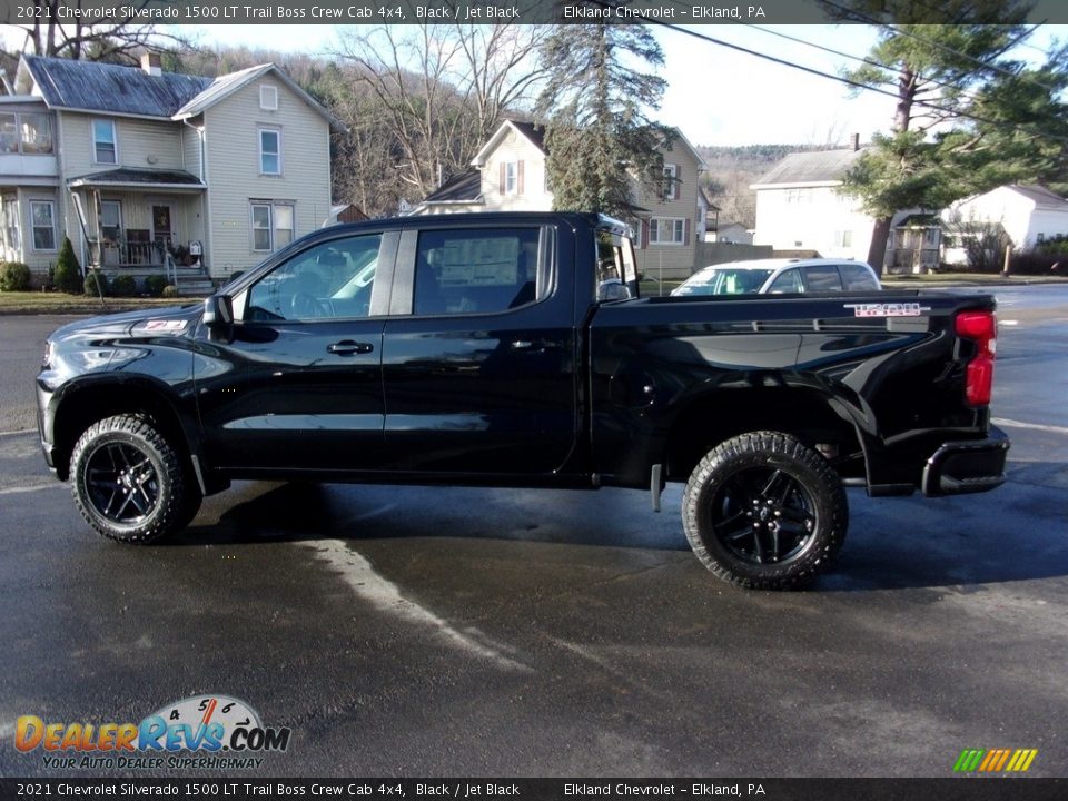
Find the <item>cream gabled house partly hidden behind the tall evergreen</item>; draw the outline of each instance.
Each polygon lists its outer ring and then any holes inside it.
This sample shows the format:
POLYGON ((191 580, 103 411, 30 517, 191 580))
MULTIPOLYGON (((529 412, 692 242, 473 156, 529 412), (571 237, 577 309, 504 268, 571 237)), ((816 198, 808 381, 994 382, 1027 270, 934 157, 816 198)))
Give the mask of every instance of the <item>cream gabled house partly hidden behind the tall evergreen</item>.
MULTIPOLYGON (((545 170, 544 131, 531 122, 505 120, 462 172, 432 192, 412 214, 457 211, 547 211, 553 192, 545 170)), ((698 176, 705 164, 682 134, 664 157, 664 182, 650 192, 635 185, 635 228, 639 270, 665 278, 685 277, 694 269, 694 243, 705 211, 699 206, 698 176)))

